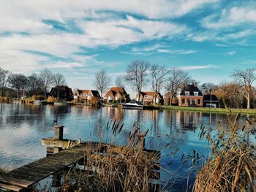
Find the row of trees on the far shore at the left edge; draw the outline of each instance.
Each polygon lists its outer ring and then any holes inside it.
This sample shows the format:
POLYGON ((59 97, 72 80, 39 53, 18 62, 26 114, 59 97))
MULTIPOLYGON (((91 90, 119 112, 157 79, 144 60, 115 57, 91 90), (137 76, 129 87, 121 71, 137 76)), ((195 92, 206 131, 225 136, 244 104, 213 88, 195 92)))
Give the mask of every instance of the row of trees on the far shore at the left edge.
POLYGON ((1 96, 7 96, 7 90, 12 88, 17 98, 20 97, 21 92, 23 96, 26 92, 29 96, 44 94, 46 99, 48 88, 60 85, 66 85, 65 77, 60 73, 53 74, 49 69, 43 69, 39 74, 32 73, 25 76, 24 74, 12 74, 0 67, 1 96))

